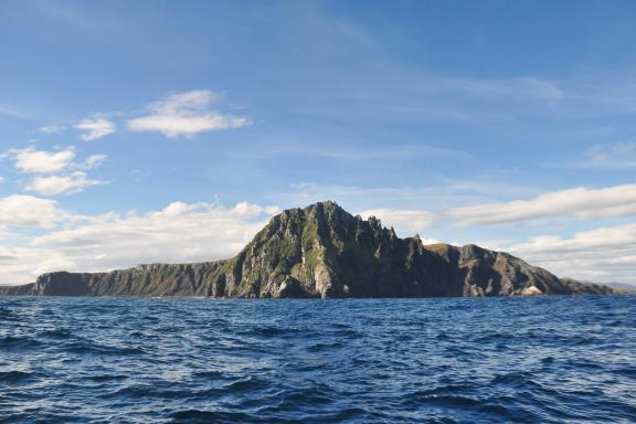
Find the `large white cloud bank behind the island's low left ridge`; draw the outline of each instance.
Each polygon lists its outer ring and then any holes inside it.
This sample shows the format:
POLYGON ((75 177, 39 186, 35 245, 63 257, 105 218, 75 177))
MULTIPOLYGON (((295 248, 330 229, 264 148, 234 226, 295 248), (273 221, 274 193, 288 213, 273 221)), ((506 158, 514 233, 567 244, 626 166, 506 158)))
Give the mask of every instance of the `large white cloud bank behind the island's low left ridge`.
POLYGON ((0 256, 14 258, 0 267, 0 284, 33 282, 51 271, 95 272, 231 257, 276 212, 276 206, 246 202, 233 208, 173 202, 144 214, 73 216, 56 230, 29 239, 25 246, 0 246, 0 256))

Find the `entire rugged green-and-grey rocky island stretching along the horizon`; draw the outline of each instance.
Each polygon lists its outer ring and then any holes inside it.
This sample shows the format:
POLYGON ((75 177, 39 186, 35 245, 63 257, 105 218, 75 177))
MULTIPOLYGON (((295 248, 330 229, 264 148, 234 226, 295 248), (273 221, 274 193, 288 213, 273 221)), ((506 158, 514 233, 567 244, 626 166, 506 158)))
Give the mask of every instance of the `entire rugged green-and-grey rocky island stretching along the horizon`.
POLYGON ((272 218, 235 257, 151 264, 107 273, 55 272, 4 296, 205 296, 347 298, 610 295, 613 288, 527 264, 474 244, 400 239, 371 216, 331 201, 272 218))

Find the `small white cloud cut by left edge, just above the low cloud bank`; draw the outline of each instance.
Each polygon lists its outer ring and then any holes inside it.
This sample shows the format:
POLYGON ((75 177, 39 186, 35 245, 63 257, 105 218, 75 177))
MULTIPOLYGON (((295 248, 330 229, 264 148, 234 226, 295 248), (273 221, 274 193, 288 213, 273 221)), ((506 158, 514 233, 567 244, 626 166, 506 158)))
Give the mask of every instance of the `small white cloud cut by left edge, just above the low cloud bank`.
POLYGON ((11 194, 0 198, 0 229, 29 226, 51 229, 71 214, 59 208, 51 199, 11 194))

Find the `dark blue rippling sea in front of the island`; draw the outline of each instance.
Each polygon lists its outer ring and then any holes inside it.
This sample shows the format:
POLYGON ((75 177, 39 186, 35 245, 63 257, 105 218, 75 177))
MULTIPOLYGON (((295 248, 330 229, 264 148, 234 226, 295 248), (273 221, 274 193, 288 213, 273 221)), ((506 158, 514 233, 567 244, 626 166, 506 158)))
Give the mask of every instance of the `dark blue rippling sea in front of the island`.
POLYGON ((0 423, 635 423, 636 296, 0 297, 0 423))

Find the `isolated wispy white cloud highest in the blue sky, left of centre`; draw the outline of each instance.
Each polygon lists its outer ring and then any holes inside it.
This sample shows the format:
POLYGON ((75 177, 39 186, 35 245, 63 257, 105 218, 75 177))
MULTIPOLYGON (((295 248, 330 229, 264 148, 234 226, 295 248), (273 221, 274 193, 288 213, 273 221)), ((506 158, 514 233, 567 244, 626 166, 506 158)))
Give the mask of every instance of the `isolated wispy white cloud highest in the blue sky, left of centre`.
POLYGON ((216 99, 210 91, 192 91, 168 96, 150 105, 150 115, 128 120, 134 131, 158 131, 167 137, 193 137, 199 132, 241 128, 251 124, 246 117, 212 110, 216 99))

